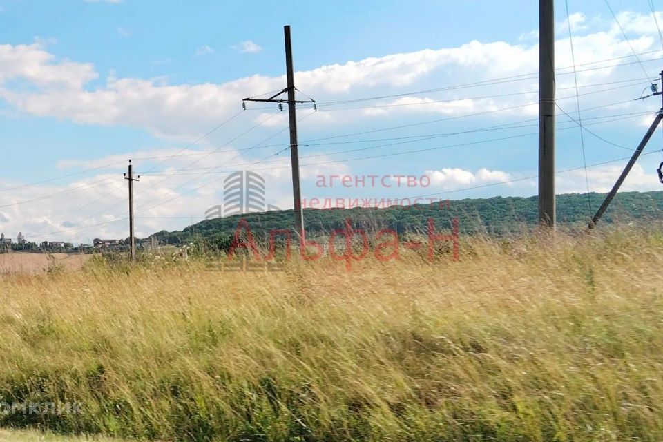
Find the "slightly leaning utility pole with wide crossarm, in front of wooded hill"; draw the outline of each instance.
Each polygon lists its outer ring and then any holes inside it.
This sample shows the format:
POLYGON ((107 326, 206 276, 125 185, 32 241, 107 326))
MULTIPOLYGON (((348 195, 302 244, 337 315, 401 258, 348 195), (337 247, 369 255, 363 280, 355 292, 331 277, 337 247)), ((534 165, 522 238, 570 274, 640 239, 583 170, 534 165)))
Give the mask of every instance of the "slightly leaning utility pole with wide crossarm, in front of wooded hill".
POLYGON ((282 106, 282 103, 288 104, 288 116, 289 116, 289 125, 290 125, 290 162, 292 167, 292 199, 293 206, 295 211, 295 230, 297 235, 300 237, 300 240, 304 240, 304 212, 302 211, 302 193, 300 188, 299 180, 299 152, 298 152, 298 143, 297 143, 297 113, 296 113, 296 104, 297 103, 313 103, 315 107, 315 100, 298 100, 295 97, 295 73, 292 66, 292 44, 290 39, 290 26, 286 25, 283 27, 283 32, 285 35, 285 70, 287 76, 287 87, 281 90, 276 95, 273 95, 267 99, 256 99, 256 98, 244 98, 242 100, 243 105, 246 106, 245 102, 267 102, 267 103, 278 103, 279 106, 282 106), (287 99, 279 98, 284 93, 287 93, 287 99))

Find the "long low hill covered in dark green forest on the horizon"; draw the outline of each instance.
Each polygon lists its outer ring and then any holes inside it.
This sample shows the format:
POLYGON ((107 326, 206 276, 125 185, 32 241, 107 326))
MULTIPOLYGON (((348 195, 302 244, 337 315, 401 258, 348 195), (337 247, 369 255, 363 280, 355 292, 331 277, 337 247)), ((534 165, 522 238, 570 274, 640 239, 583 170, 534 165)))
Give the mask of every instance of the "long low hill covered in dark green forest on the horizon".
MULTIPOLYGON (((561 226, 586 225, 602 203, 605 194, 571 193, 557 195, 557 221, 561 226), (589 208, 591 201, 592 210, 589 208)), ((526 231, 537 222, 537 197, 493 197, 450 200, 449 204, 391 206, 386 209, 305 209, 306 229, 318 236, 340 229, 349 218, 355 226, 365 229, 390 228, 399 233, 425 231, 427 219, 433 218, 439 229, 450 227, 452 218, 459 219, 461 233, 505 233, 526 231)), ((186 227, 184 231, 161 231, 153 236, 162 242, 178 244, 194 238, 227 238, 238 227, 240 218, 249 223, 258 236, 273 229, 294 230, 291 210, 249 213, 228 218, 205 220, 186 227)), ((626 223, 637 220, 663 219, 663 191, 618 193, 604 215, 602 223, 626 223)))

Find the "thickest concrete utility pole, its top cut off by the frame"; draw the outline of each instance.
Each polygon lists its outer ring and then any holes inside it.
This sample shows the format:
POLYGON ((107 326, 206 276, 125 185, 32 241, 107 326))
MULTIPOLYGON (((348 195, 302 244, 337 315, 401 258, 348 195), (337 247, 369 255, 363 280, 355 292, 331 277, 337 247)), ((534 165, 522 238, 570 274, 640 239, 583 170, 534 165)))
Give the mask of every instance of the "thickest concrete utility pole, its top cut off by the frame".
POLYGON ((555 1, 539 0, 539 224, 555 223, 555 1))

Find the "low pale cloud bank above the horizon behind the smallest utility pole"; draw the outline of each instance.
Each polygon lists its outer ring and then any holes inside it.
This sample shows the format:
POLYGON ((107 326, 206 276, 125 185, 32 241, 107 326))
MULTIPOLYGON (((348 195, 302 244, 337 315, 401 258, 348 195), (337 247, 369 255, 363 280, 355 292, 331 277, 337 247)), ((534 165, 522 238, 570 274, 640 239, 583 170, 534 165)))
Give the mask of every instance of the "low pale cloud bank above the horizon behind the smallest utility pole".
MULTIPOLYGON (((218 191, 228 173, 247 168, 255 161, 231 146, 211 155, 204 156, 200 153, 193 149, 180 151, 175 148, 160 148, 111 155, 91 162, 62 161, 59 166, 63 169, 91 169, 108 164, 113 166, 99 171, 97 175, 68 184, 26 186, 10 192, 0 191, 0 206, 15 204, 0 209, 0 230, 14 237, 18 231, 22 231, 28 240, 37 242, 47 239, 90 242, 95 237, 126 238, 126 182, 122 172, 126 170, 126 159, 130 157, 134 158, 136 173, 142 175, 140 182, 135 184, 137 236, 148 236, 162 229, 181 229, 181 217, 191 217, 193 222, 198 222, 206 209, 222 202, 218 191), (160 157, 160 160, 156 161, 163 161, 164 157, 175 153, 180 155, 158 165, 152 173, 145 173, 152 162, 142 158, 160 157), (200 161, 193 164, 196 160, 200 161), (213 167, 218 169, 211 170, 213 167), (175 174, 175 171, 184 168, 189 170, 175 174), (187 175, 204 172, 209 174, 187 175), (173 176, 167 176, 170 173, 173 176), (36 204, 16 204, 54 193, 61 195, 39 200, 36 204), (95 204, 90 204, 97 200, 99 201, 95 204), (77 211, 78 209, 81 210, 77 211), (172 219, 173 217, 178 219, 172 219)), ((316 162, 329 160, 330 158, 325 156, 316 158, 316 162)), ((268 164, 251 167, 265 177, 267 204, 291 209, 289 168, 289 155, 275 157, 268 164)), ((301 176, 304 182, 313 183, 318 175, 340 175, 348 171, 345 164, 320 164, 302 167, 301 176)), ((0 189, 17 184, 19 183, 0 180, 0 189)))

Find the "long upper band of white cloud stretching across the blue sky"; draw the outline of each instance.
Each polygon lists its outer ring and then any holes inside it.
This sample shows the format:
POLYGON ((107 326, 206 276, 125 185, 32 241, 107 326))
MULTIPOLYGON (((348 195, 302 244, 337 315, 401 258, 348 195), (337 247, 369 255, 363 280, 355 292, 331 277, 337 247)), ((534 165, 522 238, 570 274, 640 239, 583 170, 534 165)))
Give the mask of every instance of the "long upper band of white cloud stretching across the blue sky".
MULTIPOLYGON (((582 16, 577 23, 585 23, 582 16)), ((627 21, 636 23, 638 17, 627 21)), ((633 39, 636 50, 653 48, 651 35, 633 39)), ((622 35, 618 32, 594 32, 574 39, 577 61, 588 63, 600 59, 613 59, 631 55, 622 35)), ((209 46, 198 48, 198 55, 209 54, 209 46)), ((656 54, 651 57, 656 57, 656 54)), ((369 57, 345 64, 321 66, 296 73, 298 88, 318 102, 383 95, 403 91, 403 88, 426 89, 431 86, 471 83, 486 78, 509 77, 537 70, 537 45, 512 45, 503 41, 481 43, 471 41, 457 48, 427 49, 384 57, 369 57)), ((646 57, 641 57, 646 61, 646 57)), ((628 61, 628 59, 626 59, 628 61)), ((618 61, 617 61, 618 62, 618 61)), ((610 66, 616 61, 606 62, 610 66)), ((557 41, 558 66, 570 65, 568 39, 557 41)), ((599 65, 600 66, 600 65, 599 65)), ((649 65, 647 65, 649 66, 649 65)), ((653 65, 652 65, 653 66, 653 65)), ((593 67, 593 66, 591 66, 593 67)), ((633 78, 639 66, 629 65, 604 70, 584 70, 579 73, 582 84, 633 78), (616 75, 616 78, 615 78, 616 75)), ((654 72, 654 70, 652 69, 654 72)), ((570 73, 570 70, 564 72, 570 73)), ((43 117, 57 117, 84 124, 117 125, 146 128, 158 136, 195 135, 209 126, 218 124, 233 114, 241 99, 278 90, 285 85, 283 77, 253 75, 223 84, 166 84, 164 79, 151 81, 137 78, 109 76, 106 84, 90 89, 88 82, 99 74, 92 64, 57 60, 37 44, 0 46, 0 97, 21 111, 43 117), (37 86, 32 89, 12 90, 3 88, 7 79, 19 79, 37 86)), ((565 91, 573 86, 573 77, 559 75, 559 102, 564 106, 565 97, 575 99, 575 93, 565 91)), ((627 85, 628 86, 628 85, 627 85)), ((635 86, 639 87, 639 86, 635 86)), ((536 101, 536 93, 524 95, 537 88, 536 79, 512 81, 481 88, 457 88, 431 96, 412 95, 387 102, 369 102, 367 105, 406 104, 385 108, 369 108, 356 112, 336 113, 334 106, 320 106, 327 112, 326 124, 353 122, 361 115, 389 118, 403 113, 439 113, 457 116, 477 111, 491 111, 536 101), (472 95, 513 93, 503 99, 470 99, 472 95), (519 95, 522 94, 522 95, 519 95), (457 101, 449 102, 449 99, 457 101)), ((640 90, 637 94, 640 94, 640 90)), ((615 102, 620 97, 632 97, 633 90, 611 92, 615 102), (621 94, 621 95, 620 95, 621 94)), ((582 97, 584 106, 601 104, 601 95, 582 97)), ((637 106, 637 103, 624 105, 637 106)), ((339 106, 336 106, 339 107, 339 106)), ((499 115, 534 115, 536 106, 519 108, 499 115)), ((497 115, 497 114, 496 114, 497 115)), ((318 119, 323 122, 323 119, 318 119)))

